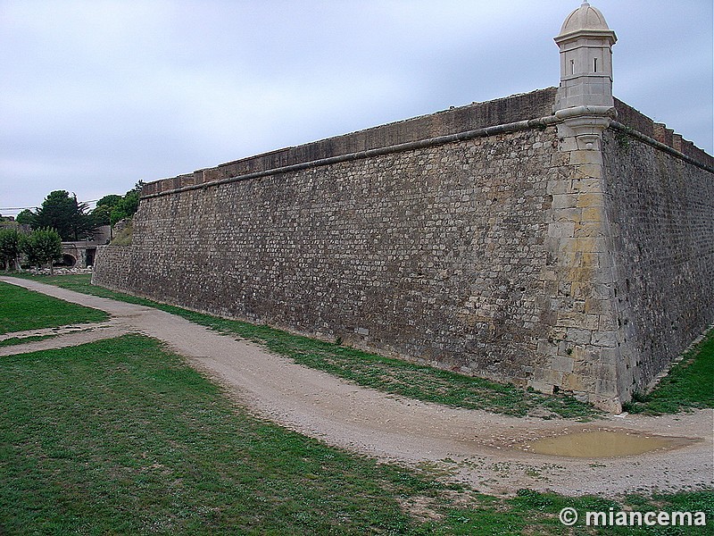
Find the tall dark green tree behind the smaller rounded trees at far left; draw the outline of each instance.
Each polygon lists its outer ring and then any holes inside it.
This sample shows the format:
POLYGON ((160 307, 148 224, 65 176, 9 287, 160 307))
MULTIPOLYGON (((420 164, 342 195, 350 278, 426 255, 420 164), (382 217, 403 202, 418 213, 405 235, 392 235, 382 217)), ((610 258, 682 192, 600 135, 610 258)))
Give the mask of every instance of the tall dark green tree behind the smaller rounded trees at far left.
POLYGON ((70 196, 66 190, 54 190, 34 215, 32 227, 57 230, 62 240, 85 239, 96 227, 86 210, 87 204, 79 203, 77 196, 70 196))

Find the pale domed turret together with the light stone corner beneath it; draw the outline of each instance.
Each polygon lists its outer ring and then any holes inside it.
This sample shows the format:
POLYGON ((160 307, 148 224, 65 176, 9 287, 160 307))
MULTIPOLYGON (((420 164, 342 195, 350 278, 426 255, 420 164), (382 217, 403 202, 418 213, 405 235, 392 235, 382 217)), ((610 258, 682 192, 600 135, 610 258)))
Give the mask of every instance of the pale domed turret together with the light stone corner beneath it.
POLYGON ((613 412, 632 381, 631 365, 621 366, 623 337, 618 314, 614 243, 607 212, 602 132, 617 113, 612 98, 615 32, 587 2, 570 13, 555 38, 560 47, 560 87, 553 105, 561 166, 549 191, 549 264, 544 270, 552 310, 546 356, 535 367, 530 387, 564 389, 613 412), (602 322, 601 322, 602 319, 602 322), (624 369, 624 370, 623 370, 624 369))

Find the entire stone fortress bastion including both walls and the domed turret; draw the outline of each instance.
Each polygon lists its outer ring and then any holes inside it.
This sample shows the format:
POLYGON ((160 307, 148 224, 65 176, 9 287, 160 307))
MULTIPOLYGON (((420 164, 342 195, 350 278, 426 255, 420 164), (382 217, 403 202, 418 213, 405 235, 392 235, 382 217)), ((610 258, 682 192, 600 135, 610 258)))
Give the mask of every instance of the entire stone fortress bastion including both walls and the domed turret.
POLYGON ((93 281, 618 412, 714 322, 714 158, 615 40, 585 2, 557 89, 149 182, 93 281))

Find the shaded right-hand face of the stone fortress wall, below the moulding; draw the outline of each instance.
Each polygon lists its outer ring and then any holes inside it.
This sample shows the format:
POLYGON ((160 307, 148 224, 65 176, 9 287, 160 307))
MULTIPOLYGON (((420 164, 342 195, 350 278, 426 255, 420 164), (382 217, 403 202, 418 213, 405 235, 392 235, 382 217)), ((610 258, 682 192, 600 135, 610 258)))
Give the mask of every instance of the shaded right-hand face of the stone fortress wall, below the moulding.
POLYGON ((602 155, 620 381, 643 390, 714 323, 714 173, 623 131, 602 155))

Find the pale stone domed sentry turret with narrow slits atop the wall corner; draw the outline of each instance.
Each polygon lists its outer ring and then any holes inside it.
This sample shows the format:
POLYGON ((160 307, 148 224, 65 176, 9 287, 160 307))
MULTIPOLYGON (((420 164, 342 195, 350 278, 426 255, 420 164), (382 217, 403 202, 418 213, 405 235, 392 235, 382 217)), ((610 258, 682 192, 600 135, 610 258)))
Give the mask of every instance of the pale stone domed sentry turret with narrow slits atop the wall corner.
POLYGON ((570 13, 555 42, 560 47, 560 87, 554 113, 562 138, 579 149, 598 149, 602 130, 617 115, 612 99, 612 45, 617 41, 602 13, 587 2, 570 13))

